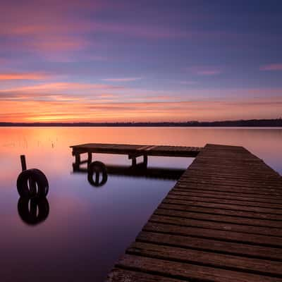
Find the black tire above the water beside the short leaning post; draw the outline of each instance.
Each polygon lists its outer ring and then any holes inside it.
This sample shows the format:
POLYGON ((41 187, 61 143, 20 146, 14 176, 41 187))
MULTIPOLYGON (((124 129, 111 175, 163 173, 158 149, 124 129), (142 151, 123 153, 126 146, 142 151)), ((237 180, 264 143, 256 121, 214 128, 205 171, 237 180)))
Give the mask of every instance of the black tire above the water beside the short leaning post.
POLYGON ((17 189, 20 197, 46 197, 49 191, 47 177, 37 168, 27 169, 19 174, 17 189), (37 189, 29 188, 29 184, 37 184, 37 189))

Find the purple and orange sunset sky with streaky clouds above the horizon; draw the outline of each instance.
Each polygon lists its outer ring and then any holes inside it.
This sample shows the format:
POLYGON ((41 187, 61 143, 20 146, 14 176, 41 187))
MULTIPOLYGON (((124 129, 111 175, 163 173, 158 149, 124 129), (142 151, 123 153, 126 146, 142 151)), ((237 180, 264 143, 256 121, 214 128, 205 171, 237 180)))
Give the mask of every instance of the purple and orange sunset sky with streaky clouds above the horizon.
POLYGON ((1 1, 0 121, 280 118, 281 30, 279 0, 1 1))

